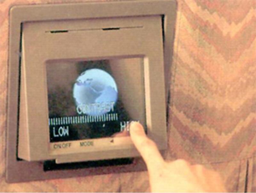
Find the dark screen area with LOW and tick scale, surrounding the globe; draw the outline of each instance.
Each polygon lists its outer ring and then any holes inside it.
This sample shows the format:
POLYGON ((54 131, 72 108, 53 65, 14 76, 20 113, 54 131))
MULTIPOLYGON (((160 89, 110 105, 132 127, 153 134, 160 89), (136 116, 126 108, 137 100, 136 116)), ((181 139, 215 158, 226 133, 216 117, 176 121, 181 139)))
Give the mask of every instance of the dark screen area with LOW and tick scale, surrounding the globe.
POLYGON ((132 120, 140 121, 146 128, 144 70, 141 58, 120 61, 54 61, 46 64, 46 71, 50 142, 109 137, 122 131, 124 125, 128 124, 127 121, 132 120), (73 97, 77 77, 84 71, 95 68, 109 73, 116 81, 118 90, 114 111, 98 117, 78 114, 73 97), (134 87, 132 81, 140 85, 139 90, 134 89, 136 86, 134 87), (130 110, 127 111, 126 107, 130 110))

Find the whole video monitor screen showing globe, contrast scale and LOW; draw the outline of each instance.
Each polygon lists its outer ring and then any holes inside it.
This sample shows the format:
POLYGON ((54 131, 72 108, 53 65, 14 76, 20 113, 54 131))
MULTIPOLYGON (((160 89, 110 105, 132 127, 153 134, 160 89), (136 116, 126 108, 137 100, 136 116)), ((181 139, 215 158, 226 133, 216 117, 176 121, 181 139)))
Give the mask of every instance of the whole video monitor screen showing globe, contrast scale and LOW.
POLYGON ((50 142, 146 130, 143 58, 46 63, 50 142))

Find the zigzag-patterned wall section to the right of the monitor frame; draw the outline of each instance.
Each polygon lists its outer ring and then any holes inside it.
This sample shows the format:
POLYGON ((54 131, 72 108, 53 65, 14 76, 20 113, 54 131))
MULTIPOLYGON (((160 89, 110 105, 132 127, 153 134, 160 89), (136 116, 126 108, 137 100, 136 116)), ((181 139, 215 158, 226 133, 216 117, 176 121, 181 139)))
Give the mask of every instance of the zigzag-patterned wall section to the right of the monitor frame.
POLYGON ((178 4, 168 158, 207 164, 230 191, 255 191, 256 1, 178 4))

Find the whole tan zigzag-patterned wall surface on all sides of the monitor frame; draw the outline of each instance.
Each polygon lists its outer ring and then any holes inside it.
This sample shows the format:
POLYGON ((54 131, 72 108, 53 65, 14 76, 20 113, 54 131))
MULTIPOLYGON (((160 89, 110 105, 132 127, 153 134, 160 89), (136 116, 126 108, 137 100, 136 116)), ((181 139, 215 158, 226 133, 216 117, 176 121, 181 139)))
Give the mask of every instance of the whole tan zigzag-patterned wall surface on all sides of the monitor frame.
MULTIPOLYGON (((0 0, 0 191, 149 191, 146 172, 7 184, 8 11, 0 0)), ((168 151, 219 171, 229 191, 256 191, 256 1, 178 0, 170 64, 168 151)))

